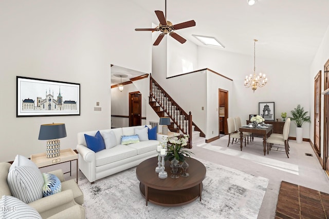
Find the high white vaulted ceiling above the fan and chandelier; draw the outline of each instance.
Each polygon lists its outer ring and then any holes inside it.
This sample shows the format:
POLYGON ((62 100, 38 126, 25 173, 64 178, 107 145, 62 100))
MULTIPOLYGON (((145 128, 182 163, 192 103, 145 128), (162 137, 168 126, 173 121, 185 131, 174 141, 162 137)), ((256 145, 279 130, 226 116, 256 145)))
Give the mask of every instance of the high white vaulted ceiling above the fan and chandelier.
MULTIPOLYGON (((132 1, 153 14, 150 23, 136 28, 159 23, 154 11, 165 12, 165 0, 132 1)), ((225 46, 215 49, 253 56, 253 39, 258 39, 256 57, 307 64, 312 63, 329 26, 328 11, 328 0, 258 0, 253 6, 247 0, 167 0, 170 22, 196 22, 195 27, 176 31, 188 41, 203 46, 192 34, 214 36, 225 46)))

